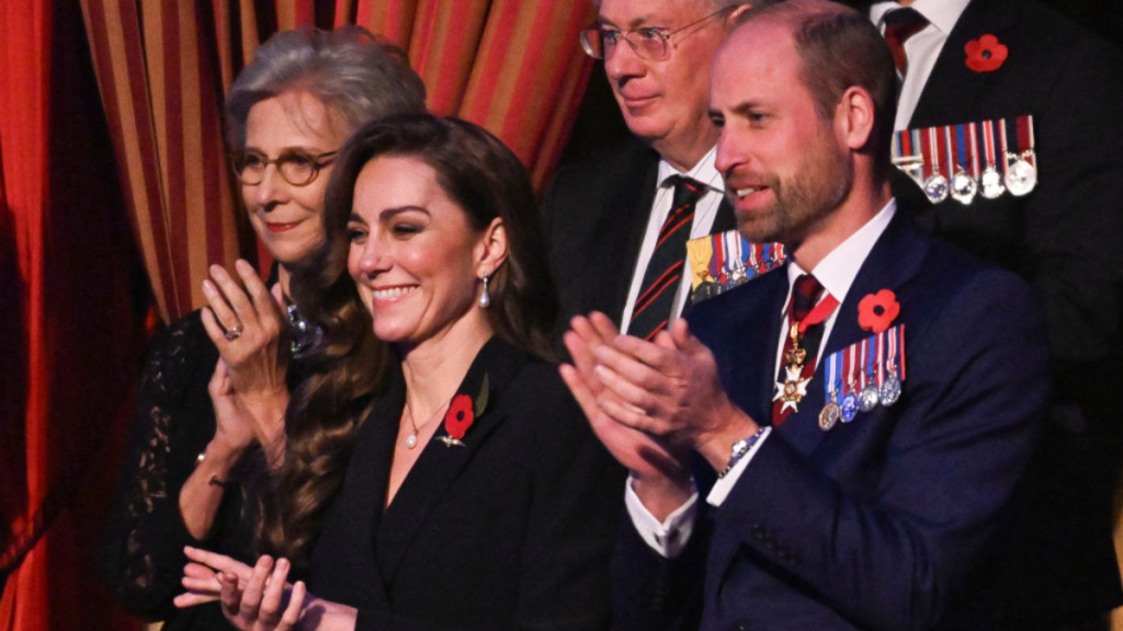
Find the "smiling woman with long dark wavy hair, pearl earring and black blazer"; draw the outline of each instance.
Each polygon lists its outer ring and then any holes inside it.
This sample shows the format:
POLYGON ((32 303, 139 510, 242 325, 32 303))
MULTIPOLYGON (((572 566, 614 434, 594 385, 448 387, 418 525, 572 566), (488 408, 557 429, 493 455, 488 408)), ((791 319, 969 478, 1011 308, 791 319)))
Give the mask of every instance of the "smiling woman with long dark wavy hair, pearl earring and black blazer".
POLYGON ((282 558, 191 550, 182 602, 243 629, 606 629, 623 470, 544 360, 522 165, 472 124, 396 118, 348 141, 326 204, 293 283, 325 330, 265 514, 282 558))

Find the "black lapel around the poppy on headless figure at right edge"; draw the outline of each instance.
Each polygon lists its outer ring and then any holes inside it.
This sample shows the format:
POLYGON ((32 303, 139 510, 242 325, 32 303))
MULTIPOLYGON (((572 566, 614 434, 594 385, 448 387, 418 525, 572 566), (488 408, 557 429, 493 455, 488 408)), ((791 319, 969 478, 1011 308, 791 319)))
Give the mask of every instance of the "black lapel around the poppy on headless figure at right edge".
POLYGON ((1006 0, 973 0, 964 9, 924 84, 909 121, 910 129, 969 122, 966 118, 995 73, 967 67, 964 47, 986 34, 1006 42, 1006 35, 1017 21, 1015 4, 1006 0), (955 89, 948 90, 949 85, 955 89))

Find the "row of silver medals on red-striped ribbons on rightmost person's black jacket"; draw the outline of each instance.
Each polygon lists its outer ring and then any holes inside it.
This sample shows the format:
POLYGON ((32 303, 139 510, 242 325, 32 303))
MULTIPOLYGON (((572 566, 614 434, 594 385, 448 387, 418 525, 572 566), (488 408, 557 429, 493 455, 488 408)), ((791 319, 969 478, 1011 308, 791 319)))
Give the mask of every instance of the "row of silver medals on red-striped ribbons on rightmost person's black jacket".
POLYGON ((893 134, 893 164, 932 203, 1029 194, 1038 184, 1037 163, 1032 116, 893 134))

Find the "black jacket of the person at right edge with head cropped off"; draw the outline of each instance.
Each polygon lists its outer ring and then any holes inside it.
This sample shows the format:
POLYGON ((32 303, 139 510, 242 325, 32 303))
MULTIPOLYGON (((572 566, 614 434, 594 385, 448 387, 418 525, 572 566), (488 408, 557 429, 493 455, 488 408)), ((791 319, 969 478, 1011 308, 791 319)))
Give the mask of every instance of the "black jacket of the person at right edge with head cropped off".
POLYGON ((1123 55, 1034 0, 971 0, 924 85, 909 127, 1033 115, 1037 189, 930 203, 896 173, 898 204, 926 228, 1026 278, 1044 307, 1053 356, 1051 436, 1011 543, 1012 625, 1047 610, 1123 604, 1112 502, 1123 418, 1123 55), (994 72, 966 65, 985 34, 1007 47, 994 72), (1044 575, 1049 579, 1044 579, 1044 575))

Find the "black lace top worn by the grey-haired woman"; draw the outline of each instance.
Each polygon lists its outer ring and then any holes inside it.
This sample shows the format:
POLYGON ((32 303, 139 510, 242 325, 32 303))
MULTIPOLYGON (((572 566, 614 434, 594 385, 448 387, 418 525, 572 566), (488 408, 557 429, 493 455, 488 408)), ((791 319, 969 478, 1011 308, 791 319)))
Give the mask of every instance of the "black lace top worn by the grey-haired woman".
POLYGON ((198 311, 157 337, 144 367, 129 455, 117 506, 101 555, 110 587, 130 612, 164 620, 166 631, 232 629, 217 603, 176 610, 172 598, 186 557, 197 546, 253 563, 253 521, 244 515, 237 476, 227 486, 214 524, 204 540, 186 530, 180 488, 195 458, 214 436, 214 411, 207 384, 218 362, 198 311))

